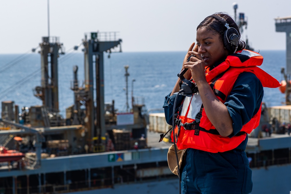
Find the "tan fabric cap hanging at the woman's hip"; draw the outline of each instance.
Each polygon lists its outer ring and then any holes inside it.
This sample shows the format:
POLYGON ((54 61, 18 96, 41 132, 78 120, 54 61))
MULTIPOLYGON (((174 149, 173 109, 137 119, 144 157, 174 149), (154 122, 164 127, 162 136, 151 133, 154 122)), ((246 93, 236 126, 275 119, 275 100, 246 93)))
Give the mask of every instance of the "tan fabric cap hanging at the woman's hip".
MULTIPOLYGON (((177 145, 176 145, 177 148, 177 145)), ((179 168, 181 169, 184 153, 186 152, 186 149, 179 150, 177 148, 177 154, 178 154, 178 160, 179 160, 179 168)), ((177 165, 177 159, 175 154, 175 147, 174 144, 169 147, 168 150, 168 165, 170 170, 175 174, 178 175, 178 165, 177 165)))

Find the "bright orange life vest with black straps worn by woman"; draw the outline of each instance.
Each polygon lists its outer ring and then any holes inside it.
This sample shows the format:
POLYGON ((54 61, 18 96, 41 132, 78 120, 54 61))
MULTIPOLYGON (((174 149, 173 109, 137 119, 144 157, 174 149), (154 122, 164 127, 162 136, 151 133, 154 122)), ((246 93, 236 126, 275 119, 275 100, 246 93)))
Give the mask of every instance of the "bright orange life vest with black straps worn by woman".
MULTIPOLYGON (((280 83, 275 78, 257 67, 261 65, 262 62, 263 57, 256 52, 249 50, 237 51, 235 54, 227 56, 226 60, 217 67, 211 71, 207 71, 205 75, 206 80, 210 85, 212 84, 215 95, 223 103, 230 94, 237 77, 242 72, 254 73, 261 81, 263 87, 279 87, 280 83), (213 83, 214 79, 216 80, 215 83, 213 83)), ((194 98, 193 96, 191 100, 194 98)), ((185 101, 183 103, 185 103, 185 101)), ((187 107, 187 111, 186 109, 182 110, 184 111, 184 116, 181 116, 180 113, 178 117, 179 120, 176 122, 178 126, 175 127, 175 140, 178 149, 195 148, 212 153, 235 149, 245 140, 246 133, 251 133, 253 129, 258 127, 260 122, 261 107, 258 113, 256 113, 249 122, 243 125, 239 135, 233 136, 232 138, 223 137, 219 135, 218 131, 207 118, 204 108, 200 123, 189 125, 190 123, 195 123, 195 119, 193 116, 190 118, 187 117, 191 102, 188 103, 189 106, 187 107), (185 127, 183 125, 185 125, 185 127)))

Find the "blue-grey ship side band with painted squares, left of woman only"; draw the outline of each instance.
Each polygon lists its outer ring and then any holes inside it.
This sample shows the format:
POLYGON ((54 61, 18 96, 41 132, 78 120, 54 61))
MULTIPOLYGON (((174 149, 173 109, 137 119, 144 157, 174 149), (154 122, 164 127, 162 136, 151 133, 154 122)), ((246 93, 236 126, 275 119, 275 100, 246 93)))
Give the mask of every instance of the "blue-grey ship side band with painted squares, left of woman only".
POLYGON ((17 168, 12 168, 12 165, 3 165, 0 167, 0 177, 63 172, 64 169, 69 171, 79 170, 83 168, 104 168, 109 166, 138 165, 142 163, 164 162, 167 161, 168 148, 172 145, 172 143, 167 143, 164 141, 159 142, 159 138, 160 133, 149 132, 147 137, 148 148, 146 149, 122 150, 113 152, 44 158, 41 159, 40 168, 32 170, 16 170, 17 168), (114 157, 114 160, 111 160, 110 157, 114 157), (118 159, 118 157, 120 158, 118 159))

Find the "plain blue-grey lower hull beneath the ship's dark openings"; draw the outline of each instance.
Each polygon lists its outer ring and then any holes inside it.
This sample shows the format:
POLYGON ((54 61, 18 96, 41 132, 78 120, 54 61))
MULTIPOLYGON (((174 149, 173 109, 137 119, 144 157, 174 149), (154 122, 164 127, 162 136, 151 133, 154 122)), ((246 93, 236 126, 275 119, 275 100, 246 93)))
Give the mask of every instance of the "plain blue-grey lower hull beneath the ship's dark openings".
MULTIPOLYGON (((291 191, 291 164, 274 165, 266 168, 253 168, 253 191, 252 194, 274 194, 288 193, 291 191)), ((95 194, 97 190, 82 191, 84 194, 95 194)), ((113 188, 98 189, 99 194, 115 193, 168 193, 179 192, 179 181, 177 178, 168 180, 157 180, 145 183, 132 183, 126 185, 115 185, 113 188)), ((79 194, 80 192, 72 192, 79 194)))

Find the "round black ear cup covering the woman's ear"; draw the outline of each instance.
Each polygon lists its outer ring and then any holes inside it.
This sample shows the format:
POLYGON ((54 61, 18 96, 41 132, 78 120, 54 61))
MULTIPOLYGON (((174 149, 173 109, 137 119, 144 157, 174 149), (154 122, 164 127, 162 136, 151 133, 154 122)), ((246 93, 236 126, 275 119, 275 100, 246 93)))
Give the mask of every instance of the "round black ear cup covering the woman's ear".
POLYGON ((239 35, 235 28, 229 28, 224 33, 223 44, 229 51, 234 51, 239 43, 239 35))

